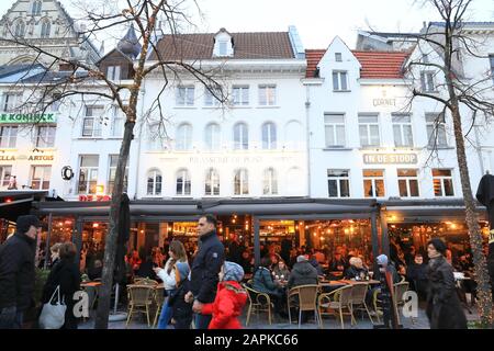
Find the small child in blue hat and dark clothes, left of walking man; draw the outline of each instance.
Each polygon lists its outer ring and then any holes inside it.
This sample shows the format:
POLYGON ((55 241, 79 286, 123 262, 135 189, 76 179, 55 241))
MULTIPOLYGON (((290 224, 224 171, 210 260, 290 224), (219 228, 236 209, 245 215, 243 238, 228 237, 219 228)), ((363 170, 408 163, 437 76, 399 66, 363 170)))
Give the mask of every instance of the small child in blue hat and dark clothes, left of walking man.
POLYGON ((192 304, 186 302, 186 295, 189 292, 189 273, 190 267, 188 262, 175 263, 175 279, 177 291, 168 299, 168 306, 171 307, 171 324, 175 329, 190 329, 192 322, 192 304))

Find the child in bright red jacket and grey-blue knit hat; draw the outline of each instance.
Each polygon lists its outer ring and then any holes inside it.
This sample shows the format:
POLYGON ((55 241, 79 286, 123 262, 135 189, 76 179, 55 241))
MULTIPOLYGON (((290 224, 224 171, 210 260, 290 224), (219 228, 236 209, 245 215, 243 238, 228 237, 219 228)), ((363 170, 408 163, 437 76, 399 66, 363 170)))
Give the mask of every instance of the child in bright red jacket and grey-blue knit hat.
POLYGON ((247 292, 242 287, 244 269, 242 265, 225 261, 218 273, 216 298, 212 304, 202 306, 203 315, 213 315, 209 329, 242 329, 238 317, 247 302, 247 292))

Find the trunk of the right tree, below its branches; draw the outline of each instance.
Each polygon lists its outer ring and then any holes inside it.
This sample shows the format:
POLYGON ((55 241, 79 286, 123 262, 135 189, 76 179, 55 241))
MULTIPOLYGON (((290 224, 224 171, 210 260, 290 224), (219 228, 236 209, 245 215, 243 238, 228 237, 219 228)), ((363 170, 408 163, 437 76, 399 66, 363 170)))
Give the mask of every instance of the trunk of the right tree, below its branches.
POLYGON ((460 170, 461 190, 463 192, 467 226, 469 228, 470 245, 472 247, 475 282, 478 284, 479 313, 484 326, 492 326, 492 293, 490 276, 487 274, 487 262, 483 251, 482 234, 476 215, 475 200, 470 184, 469 168, 464 150, 463 132, 461 128, 461 115, 458 103, 452 103, 452 120, 454 139, 457 143, 458 168, 460 170))

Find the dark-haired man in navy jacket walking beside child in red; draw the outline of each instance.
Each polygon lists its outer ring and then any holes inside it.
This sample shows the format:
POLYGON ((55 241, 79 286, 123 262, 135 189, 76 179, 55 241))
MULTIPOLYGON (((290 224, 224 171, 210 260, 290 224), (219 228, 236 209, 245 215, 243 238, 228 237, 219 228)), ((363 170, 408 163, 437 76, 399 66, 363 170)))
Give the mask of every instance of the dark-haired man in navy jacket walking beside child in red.
POLYGON ((199 250, 192 262, 190 291, 186 302, 193 299, 195 328, 207 329, 212 315, 202 315, 203 304, 211 304, 216 297, 220 270, 225 261, 225 248, 216 235, 216 218, 205 215, 199 218, 199 250))

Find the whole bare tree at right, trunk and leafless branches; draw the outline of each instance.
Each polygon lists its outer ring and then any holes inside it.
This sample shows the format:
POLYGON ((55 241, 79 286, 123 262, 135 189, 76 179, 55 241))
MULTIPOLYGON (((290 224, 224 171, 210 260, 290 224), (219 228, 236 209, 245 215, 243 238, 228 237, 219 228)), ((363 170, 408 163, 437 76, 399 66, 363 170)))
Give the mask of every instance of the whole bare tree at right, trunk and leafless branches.
POLYGON ((483 41, 465 30, 472 0, 423 0, 419 3, 433 5, 441 22, 429 24, 416 35, 417 45, 407 65, 407 77, 414 81, 412 103, 426 99, 441 106, 441 112, 437 114, 434 123, 435 140, 434 145, 429 145, 433 149, 437 149, 437 133, 445 116, 450 115, 452 118, 465 220, 479 291, 480 316, 483 325, 492 326, 490 276, 465 154, 465 143, 470 141, 469 133, 474 124, 479 118, 484 118, 485 122, 494 115, 492 77, 487 70, 482 77, 470 77, 462 65, 469 58, 487 60, 489 57, 482 55, 483 41))

